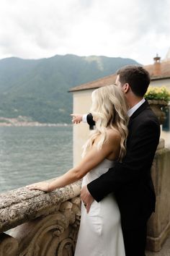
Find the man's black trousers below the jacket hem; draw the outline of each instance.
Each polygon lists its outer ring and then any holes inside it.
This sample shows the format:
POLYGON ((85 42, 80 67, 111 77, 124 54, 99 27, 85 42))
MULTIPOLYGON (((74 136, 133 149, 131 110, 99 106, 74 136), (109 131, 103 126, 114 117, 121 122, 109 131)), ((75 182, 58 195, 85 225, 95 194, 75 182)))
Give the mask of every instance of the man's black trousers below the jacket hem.
POLYGON ((146 225, 138 229, 122 230, 126 256, 146 256, 146 225))

